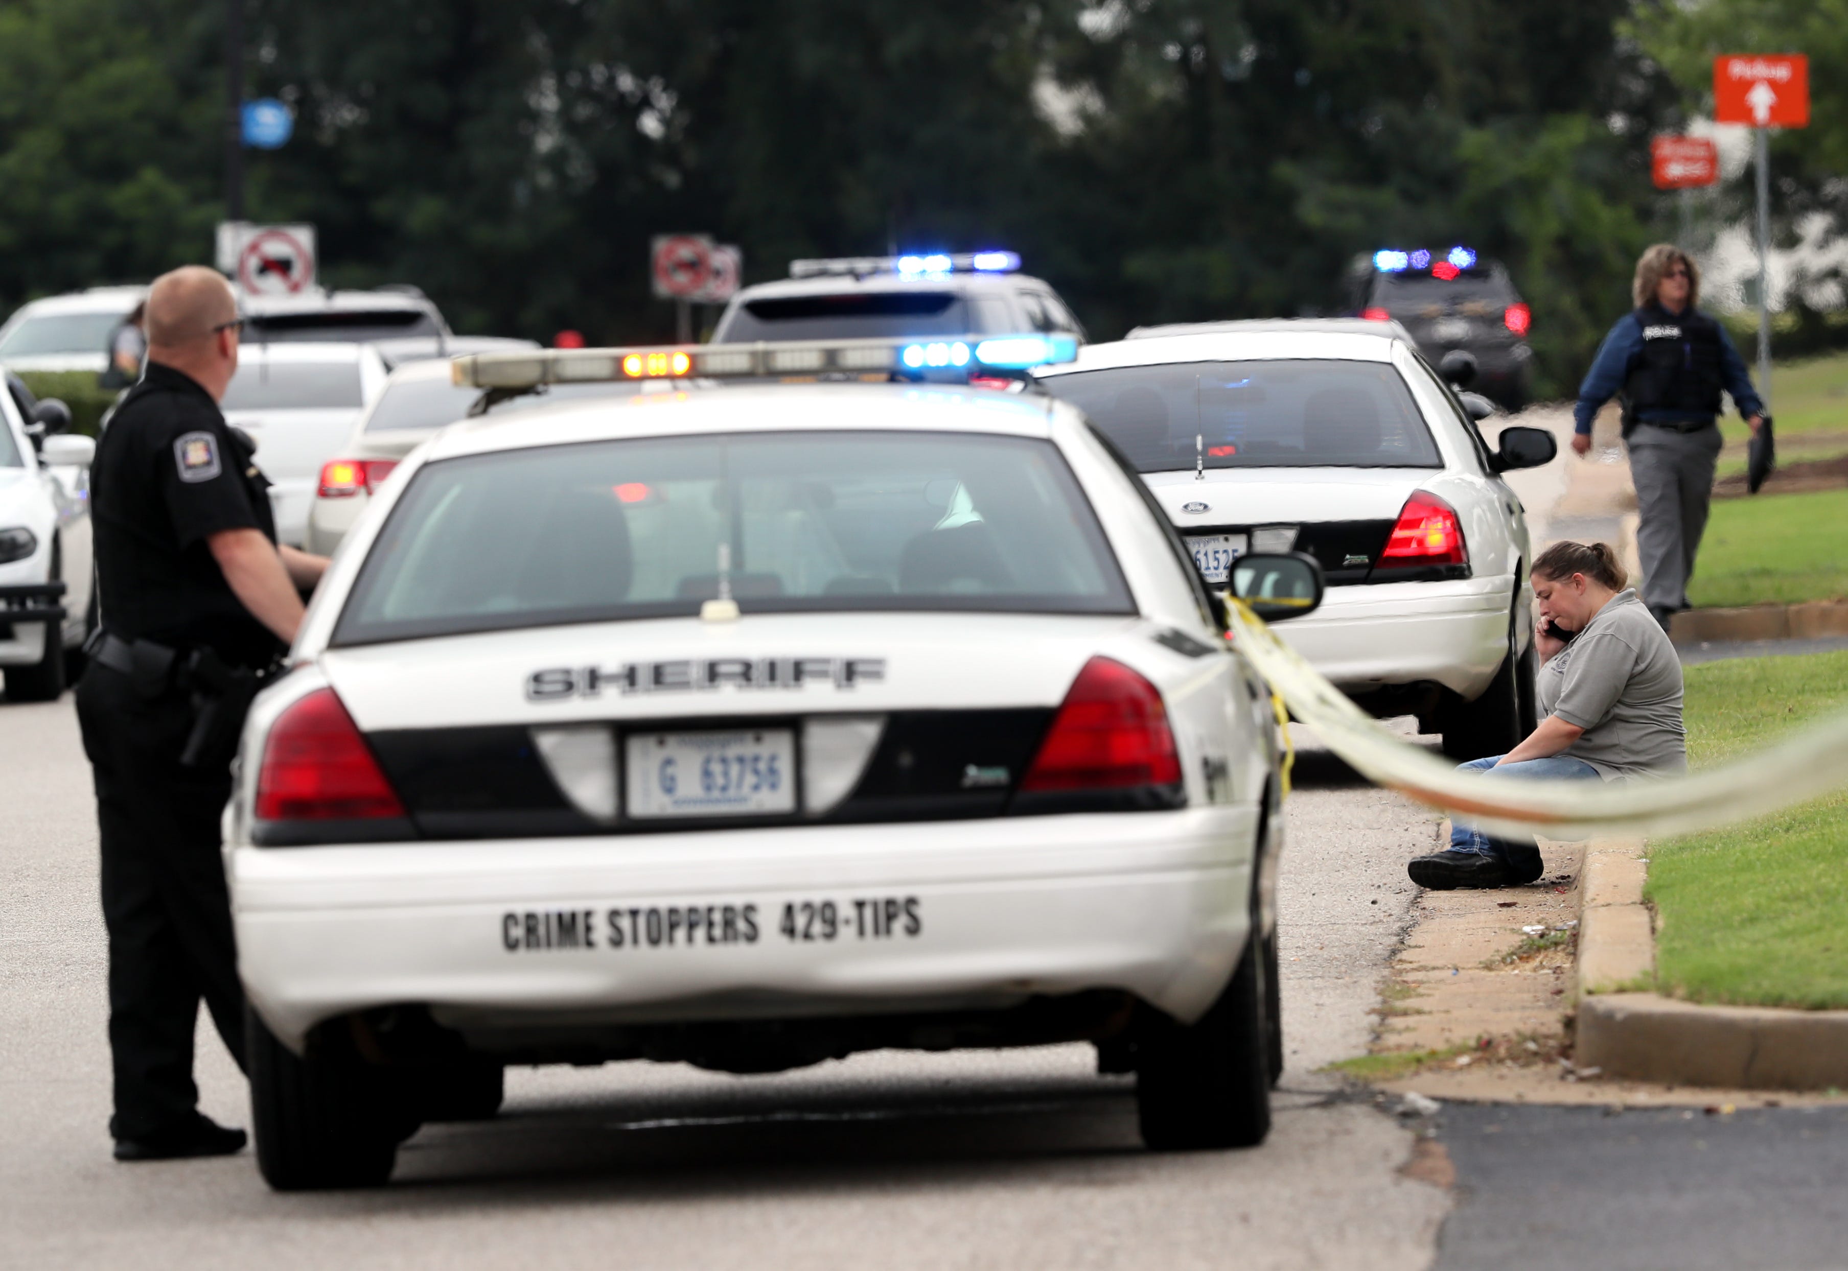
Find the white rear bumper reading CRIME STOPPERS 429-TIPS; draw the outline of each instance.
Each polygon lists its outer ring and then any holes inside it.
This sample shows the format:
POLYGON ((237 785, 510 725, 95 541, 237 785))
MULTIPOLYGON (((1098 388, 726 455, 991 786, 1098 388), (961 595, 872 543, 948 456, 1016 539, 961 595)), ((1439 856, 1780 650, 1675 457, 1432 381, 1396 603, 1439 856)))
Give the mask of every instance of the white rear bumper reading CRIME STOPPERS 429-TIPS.
POLYGON ((405 1003, 464 1033, 517 1035, 1005 1009, 1118 988, 1192 1020, 1246 942, 1257 822, 1257 807, 1216 805, 237 846, 227 863, 238 970, 290 1046, 322 1020, 405 1003))

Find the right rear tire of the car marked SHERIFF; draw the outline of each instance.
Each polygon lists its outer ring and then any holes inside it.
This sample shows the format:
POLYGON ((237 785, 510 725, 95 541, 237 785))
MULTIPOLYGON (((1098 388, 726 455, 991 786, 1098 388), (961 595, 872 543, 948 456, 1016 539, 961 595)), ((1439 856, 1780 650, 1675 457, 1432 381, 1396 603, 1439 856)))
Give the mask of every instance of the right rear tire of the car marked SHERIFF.
POLYGON ((1257 1147, 1270 1134, 1264 940, 1196 1023, 1151 1020, 1137 1046, 1137 1121, 1151 1151, 1257 1147))

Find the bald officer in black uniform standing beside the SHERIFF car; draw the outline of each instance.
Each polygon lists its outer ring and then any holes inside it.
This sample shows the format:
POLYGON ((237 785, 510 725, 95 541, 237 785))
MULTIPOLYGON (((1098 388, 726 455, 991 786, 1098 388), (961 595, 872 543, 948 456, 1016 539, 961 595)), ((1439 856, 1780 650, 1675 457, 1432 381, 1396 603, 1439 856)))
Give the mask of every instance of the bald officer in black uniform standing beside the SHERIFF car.
POLYGON ((200 1114, 192 1083, 201 998, 244 1062, 218 817, 257 672, 294 641, 301 589, 327 565, 275 545, 270 482, 218 412, 240 325, 225 279, 161 275, 146 321, 146 371, 91 469, 103 630, 78 685, 102 829, 116 1160, 244 1145, 200 1114))

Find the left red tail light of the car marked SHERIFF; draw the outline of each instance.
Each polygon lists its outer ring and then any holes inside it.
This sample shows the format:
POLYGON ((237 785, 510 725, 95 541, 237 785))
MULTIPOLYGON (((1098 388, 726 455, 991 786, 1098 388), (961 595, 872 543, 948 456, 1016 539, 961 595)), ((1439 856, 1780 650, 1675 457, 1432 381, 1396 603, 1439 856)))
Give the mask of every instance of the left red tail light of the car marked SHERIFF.
POLYGON ((309 693, 270 726, 257 774, 257 820, 403 815, 405 805, 333 689, 309 693))

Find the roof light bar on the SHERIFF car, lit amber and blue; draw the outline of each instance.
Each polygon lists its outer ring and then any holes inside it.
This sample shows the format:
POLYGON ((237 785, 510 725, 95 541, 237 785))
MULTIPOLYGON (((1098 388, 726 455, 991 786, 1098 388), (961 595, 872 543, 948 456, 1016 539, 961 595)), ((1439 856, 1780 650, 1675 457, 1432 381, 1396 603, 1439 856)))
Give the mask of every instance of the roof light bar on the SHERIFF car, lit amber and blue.
POLYGON ((630 349, 519 349, 466 353, 449 362, 458 388, 534 388, 643 379, 778 379, 1022 371, 1077 358, 1072 336, 955 336, 946 340, 778 340, 630 349))

